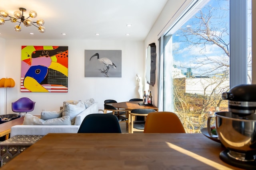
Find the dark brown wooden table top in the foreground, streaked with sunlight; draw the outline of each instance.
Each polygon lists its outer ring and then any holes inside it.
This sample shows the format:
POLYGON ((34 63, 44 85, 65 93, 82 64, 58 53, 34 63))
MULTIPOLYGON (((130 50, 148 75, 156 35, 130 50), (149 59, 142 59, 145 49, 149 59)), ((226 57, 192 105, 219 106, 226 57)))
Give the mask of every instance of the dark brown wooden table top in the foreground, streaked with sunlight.
POLYGON ((224 149, 200 133, 49 133, 1 170, 239 170, 224 149))

